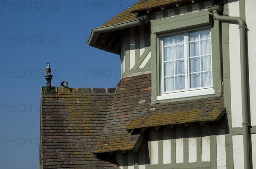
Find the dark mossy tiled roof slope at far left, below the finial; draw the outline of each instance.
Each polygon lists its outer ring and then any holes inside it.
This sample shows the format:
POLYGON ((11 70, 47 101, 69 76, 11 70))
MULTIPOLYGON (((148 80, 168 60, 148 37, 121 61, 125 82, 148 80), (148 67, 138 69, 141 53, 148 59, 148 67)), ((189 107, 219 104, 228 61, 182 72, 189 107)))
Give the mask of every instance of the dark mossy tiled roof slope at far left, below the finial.
MULTIPOLYGON (((91 152, 105 124, 115 89, 65 89, 41 95, 44 169, 119 169, 111 157, 91 152)), ((109 156, 109 155, 108 155, 109 156)))

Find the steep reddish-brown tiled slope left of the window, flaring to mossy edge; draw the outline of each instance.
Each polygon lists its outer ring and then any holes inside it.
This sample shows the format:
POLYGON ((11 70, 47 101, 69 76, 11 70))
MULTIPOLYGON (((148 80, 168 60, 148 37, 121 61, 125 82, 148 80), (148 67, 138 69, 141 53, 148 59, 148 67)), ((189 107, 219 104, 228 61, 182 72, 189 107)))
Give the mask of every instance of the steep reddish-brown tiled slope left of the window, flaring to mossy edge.
POLYGON ((133 149, 139 134, 131 134, 126 126, 150 104, 150 75, 123 78, 116 90, 106 124, 93 152, 112 152, 133 149))

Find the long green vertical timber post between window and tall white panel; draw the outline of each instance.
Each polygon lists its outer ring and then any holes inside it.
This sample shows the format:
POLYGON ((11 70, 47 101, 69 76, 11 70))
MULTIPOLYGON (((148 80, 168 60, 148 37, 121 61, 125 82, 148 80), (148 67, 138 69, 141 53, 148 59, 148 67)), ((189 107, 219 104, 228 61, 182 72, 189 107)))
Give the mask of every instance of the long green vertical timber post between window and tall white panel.
MULTIPOLYGON (((225 8, 225 6, 224 6, 225 8)), ((228 13, 228 8, 224 11, 228 13)), ((221 23, 222 34, 220 37, 229 37, 228 23, 221 23)), ((232 141, 232 118, 231 118, 231 91, 230 91, 230 55, 229 55, 229 42, 226 39, 221 39, 221 50, 222 50, 222 68, 221 76, 224 82, 224 107, 226 108, 227 120, 225 128, 225 139, 228 140, 225 146, 226 148, 226 166, 228 169, 234 168, 233 163, 233 141, 232 141)), ((227 38, 228 40, 228 38, 227 38)))

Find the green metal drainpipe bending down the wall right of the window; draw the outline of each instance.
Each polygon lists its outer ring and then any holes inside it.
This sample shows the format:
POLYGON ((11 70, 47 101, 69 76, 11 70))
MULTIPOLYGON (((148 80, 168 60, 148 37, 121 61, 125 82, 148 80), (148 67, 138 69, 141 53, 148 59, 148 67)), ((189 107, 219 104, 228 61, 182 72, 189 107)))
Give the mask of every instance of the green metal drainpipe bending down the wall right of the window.
POLYGON ((239 23, 240 32, 240 62, 241 62, 241 92, 242 92, 242 117, 243 117, 243 142, 244 142, 244 169, 250 168, 249 157, 249 122, 247 113, 247 80, 246 80, 246 52, 245 52, 245 23, 241 17, 220 16, 218 11, 223 11, 223 6, 215 5, 208 7, 214 19, 219 21, 239 23))

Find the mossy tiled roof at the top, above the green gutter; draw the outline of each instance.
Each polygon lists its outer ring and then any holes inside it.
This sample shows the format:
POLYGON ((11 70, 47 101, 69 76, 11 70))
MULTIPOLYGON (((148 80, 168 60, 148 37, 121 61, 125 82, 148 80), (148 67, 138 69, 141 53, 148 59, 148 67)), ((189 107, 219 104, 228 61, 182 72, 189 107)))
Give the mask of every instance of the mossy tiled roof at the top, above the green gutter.
POLYGON ((116 25, 119 23, 125 23, 136 19, 136 14, 133 14, 134 11, 143 11, 148 8, 157 8, 160 6, 166 6, 168 4, 181 2, 184 0, 139 0, 137 3, 122 11, 120 14, 117 14, 103 26, 116 25))

